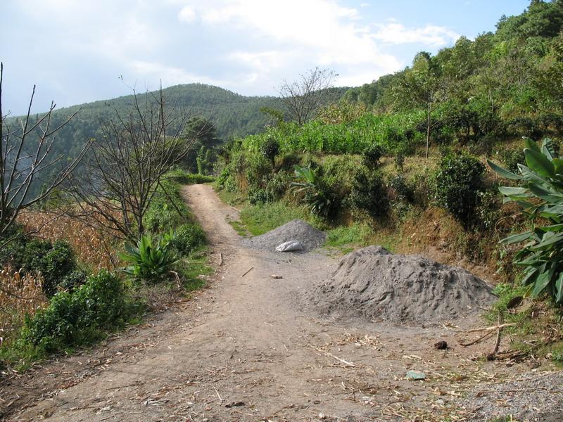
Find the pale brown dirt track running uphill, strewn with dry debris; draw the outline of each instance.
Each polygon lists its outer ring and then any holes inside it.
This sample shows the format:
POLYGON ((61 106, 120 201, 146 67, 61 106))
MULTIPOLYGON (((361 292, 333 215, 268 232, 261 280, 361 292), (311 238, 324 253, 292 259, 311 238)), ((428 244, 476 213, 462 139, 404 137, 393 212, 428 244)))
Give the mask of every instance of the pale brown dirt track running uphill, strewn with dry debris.
MULTIPOLYGON (((208 288, 93 350, 4 376, 0 417, 481 421, 492 410, 483 413, 462 402, 462 395, 474 385, 496 385, 530 371, 526 363, 507 367, 477 359, 493 350, 494 338, 469 347, 457 343, 476 335, 451 327, 483 326, 477 316, 450 321, 450 329, 423 328, 334 321, 296 306, 296 297, 329 279, 338 260, 243 248, 227 223, 237 218, 236 210, 210 186, 186 186, 184 195, 212 245, 217 272, 208 288), (439 340, 450 348, 436 350, 439 340), (409 370, 423 371, 426 379, 407 381, 409 370)), ((535 371, 548 369, 544 362, 535 371)), ((495 409, 503 409, 502 403, 495 409)))

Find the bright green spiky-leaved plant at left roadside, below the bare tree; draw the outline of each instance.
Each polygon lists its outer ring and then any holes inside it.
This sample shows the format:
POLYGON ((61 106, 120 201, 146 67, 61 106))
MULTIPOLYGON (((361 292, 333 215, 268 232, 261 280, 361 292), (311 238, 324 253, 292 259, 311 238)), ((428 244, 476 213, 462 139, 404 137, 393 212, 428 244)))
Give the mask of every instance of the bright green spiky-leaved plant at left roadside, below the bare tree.
POLYGON ((125 267, 125 274, 146 282, 156 282, 163 279, 177 260, 177 254, 172 250, 174 231, 163 234, 156 243, 148 235, 142 235, 137 246, 127 243, 125 252, 120 253, 122 260, 132 265, 125 267))

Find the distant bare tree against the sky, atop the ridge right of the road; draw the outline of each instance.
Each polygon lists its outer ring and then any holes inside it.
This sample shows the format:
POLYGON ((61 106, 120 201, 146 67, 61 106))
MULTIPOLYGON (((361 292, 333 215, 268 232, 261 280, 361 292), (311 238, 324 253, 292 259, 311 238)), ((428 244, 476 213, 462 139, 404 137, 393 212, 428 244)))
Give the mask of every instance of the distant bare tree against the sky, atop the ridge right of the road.
POLYGON ((296 82, 284 80, 279 95, 291 120, 304 124, 315 117, 319 108, 330 100, 329 89, 337 76, 334 70, 315 68, 300 75, 296 82))

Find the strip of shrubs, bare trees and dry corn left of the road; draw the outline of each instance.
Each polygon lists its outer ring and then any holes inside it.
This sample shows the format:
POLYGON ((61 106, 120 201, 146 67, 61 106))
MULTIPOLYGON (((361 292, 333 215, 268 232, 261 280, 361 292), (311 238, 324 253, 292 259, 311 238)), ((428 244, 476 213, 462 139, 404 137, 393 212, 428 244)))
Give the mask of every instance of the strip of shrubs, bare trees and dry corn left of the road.
POLYGON ((143 104, 134 96, 126 115, 115 111, 101 123, 107 136, 87 143, 62 170, 63 155, 51 148, 61 129, 49 129, 53 108, 15 129, 2 115, 0 170, 9 175, 0 178, 4 374, 92 345, 205 284, 205 234, 180 189, 213 181, 210 149, 196 154, 203 174, 190 174, 182 161, 208 122, 169 117, 164 103, 162 94, 143 104), (20 158, 34 145, 36 161, 20 158))

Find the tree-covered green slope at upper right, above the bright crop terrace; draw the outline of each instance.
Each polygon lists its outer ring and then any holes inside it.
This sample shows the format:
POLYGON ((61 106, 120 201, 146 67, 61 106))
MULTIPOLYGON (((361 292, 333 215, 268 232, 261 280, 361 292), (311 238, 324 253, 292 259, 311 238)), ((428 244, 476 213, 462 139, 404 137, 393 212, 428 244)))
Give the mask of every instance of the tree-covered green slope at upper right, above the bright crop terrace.
POLYGON ((345 98, 377 114, 419 111, 416 129, 440 143, 560 136, 563 0, 532 0, 524 13, 502 16, 495 32, 460 37, 436 55, 423 51, 345 98))

